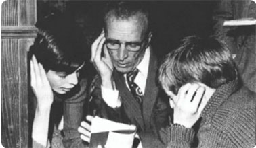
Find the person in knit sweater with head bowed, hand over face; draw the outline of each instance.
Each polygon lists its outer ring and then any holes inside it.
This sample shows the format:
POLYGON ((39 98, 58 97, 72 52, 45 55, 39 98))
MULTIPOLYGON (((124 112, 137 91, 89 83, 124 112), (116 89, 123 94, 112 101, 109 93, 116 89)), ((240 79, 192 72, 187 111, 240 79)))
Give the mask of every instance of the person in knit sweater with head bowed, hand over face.
POLYGON ((255 93, 241 87, 225 44, 215 38, 186 37, 159 71, 174 110, 171 126, 161 130, 168 147, 255 146, 255 93), (192 85, 197 85, 196 93, 189 89, 192 85), (190 99, 201 94, 202 99, 190 99), (196 122, 198 131, 192 128, 196 122))

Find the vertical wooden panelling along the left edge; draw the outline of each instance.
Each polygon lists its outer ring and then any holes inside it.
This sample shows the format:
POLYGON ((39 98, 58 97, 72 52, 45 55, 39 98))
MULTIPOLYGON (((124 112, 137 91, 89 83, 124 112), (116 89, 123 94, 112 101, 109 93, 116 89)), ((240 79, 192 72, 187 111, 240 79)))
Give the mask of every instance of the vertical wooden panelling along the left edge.
POLYGON ((36 12, 36 0, 7 0, 2 5, 3 147, 28 147, 27 52, 37 32, 36 12))

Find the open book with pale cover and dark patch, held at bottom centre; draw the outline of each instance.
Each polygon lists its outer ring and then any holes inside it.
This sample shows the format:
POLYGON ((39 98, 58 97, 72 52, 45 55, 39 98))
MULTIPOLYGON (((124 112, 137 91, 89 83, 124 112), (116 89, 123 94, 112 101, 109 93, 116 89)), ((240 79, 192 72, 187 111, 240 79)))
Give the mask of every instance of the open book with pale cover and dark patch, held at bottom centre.
POLYGON ((136 133, 136 126, 113 122, 95 116, 91 122, 90 147, 98 145, 106 148, 131 148, 136 133))

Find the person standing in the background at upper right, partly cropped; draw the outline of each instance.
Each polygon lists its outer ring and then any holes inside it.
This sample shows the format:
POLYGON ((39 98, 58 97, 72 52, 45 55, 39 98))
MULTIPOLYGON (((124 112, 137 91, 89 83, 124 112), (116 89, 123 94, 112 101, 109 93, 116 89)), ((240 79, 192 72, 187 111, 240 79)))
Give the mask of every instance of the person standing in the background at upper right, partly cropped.
POLYGON ((217 1, 213 11, 213 32, 230 46, 242 82, 256 93, 255 24, 223 26, 227 20, 256 19, 255 1, 217 1))

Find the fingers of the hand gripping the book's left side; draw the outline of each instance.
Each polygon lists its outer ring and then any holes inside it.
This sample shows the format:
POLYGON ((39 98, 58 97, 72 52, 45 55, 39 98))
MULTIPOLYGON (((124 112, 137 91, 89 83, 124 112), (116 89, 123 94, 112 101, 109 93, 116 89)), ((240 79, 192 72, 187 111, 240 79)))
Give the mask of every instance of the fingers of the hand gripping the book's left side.
MULTIPOLYGON (((86 116, 86 120, 89 122, 92 122, 93 116, 86 116)), ((81 122, 81 126, 78 128, 79 133, 81 133, 80 138, 83 141, 87 141, 88 143, 90 142, 91 139, 91 125, 85 121, 81 122)))

